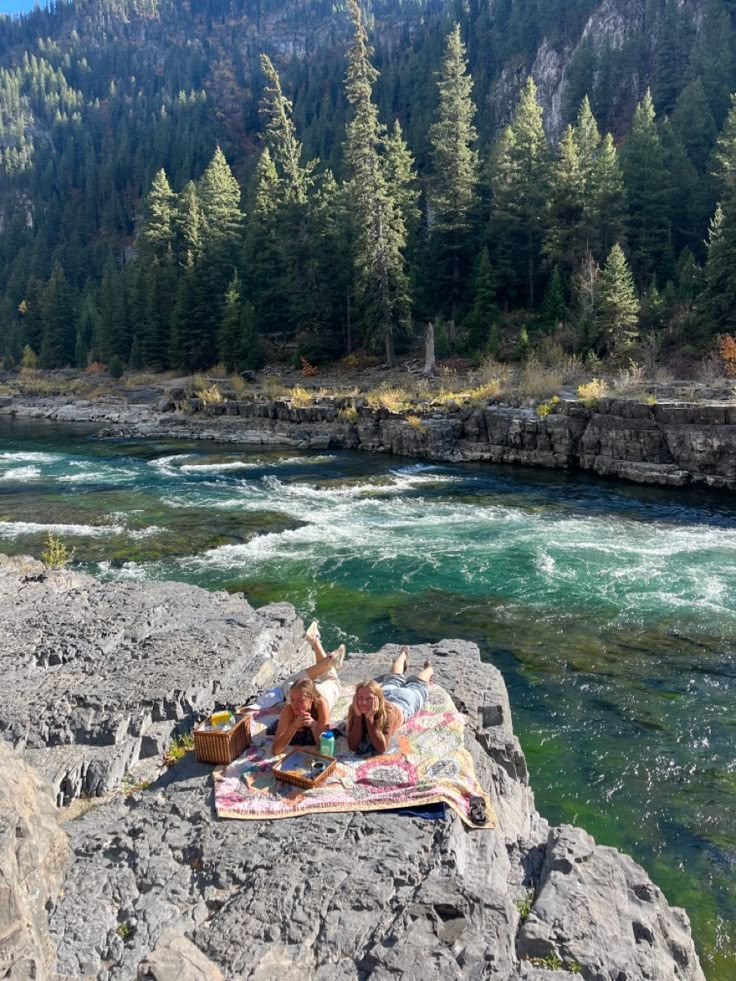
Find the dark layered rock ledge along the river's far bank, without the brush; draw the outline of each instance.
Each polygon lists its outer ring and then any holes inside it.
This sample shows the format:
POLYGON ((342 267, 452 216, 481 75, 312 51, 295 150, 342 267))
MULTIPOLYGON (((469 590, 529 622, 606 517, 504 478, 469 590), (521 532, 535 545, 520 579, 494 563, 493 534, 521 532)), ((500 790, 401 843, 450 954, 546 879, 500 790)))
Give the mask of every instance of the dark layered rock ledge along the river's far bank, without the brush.
POLYGON ((250 445, 351 449, 445 462, 580 469, 644 484, 736 489, 736 405, 601 398, 393 413, 355 398, 187 401, 0 399, 0 415, 104 423, 103 436, 182 437, 250 445), (179 403, 176 403, 179 404, 179 403))

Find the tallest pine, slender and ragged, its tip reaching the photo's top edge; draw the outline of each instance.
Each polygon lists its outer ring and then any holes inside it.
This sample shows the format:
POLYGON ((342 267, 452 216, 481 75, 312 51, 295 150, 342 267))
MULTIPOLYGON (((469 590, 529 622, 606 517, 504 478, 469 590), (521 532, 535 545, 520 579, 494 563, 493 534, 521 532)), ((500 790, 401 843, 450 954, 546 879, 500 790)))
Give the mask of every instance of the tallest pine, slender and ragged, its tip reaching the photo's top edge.
POLYGON ((345 161, 350 179, 356 287, 367 318, 383 339, 386 361, 393 364, 394 338, 408 325, 409 293, 404 262, 406 226, 392 196, 381 158, 384 128, 373 102, 378 72, 357 0, 349 0, 353 43, 348 51, 346 96, 353 109, 347 126, 345 161))

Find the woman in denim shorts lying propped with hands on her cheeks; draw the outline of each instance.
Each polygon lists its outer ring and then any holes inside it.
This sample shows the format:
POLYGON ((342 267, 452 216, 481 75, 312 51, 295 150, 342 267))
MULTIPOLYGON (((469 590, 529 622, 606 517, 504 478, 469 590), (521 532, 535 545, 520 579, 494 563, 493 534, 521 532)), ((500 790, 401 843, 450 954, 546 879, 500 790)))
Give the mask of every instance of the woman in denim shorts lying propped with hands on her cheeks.
POLYGON ((354 753, 385 753, 391 736, 427 701, 433 670, 429 661, 417 675, 405 677, 409 651, 402 647, 391 673, 364 681, 348 710, 348 746, 354 753))

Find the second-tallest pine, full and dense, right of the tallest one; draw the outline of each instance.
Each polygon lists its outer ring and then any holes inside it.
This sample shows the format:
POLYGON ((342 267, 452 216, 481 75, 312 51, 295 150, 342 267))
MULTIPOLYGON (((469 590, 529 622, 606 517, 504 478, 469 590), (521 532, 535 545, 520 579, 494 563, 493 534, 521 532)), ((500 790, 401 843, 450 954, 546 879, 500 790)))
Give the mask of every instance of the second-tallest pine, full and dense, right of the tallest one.
POLYGON ((437 257, 436 282, 444 293, 444 310, 454 322, 461 301, 462 266, 478 184, 478 153, 473 146, 478 136, 473 125, 473 80, 467 72, 459 24, 448 35, 437 87, 436 122, 429 131, 429 228, 437 257))

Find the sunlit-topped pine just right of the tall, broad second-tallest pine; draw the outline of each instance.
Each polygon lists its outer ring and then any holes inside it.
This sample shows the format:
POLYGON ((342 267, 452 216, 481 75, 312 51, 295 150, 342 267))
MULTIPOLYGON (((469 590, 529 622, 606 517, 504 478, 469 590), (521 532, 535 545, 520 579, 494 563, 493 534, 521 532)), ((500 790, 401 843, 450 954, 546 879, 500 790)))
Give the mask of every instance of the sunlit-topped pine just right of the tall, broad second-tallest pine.
MULTIPOLYGON (((535 303, 537 260, 548 197, 548 146, 534 80, 527 79, 511 125, 502 132, 491 166, 491 237, 502 242, 501 269, 523 264, 526 298, 535 303)), ((497 266, 498 268, 498 266, 497 266)))

